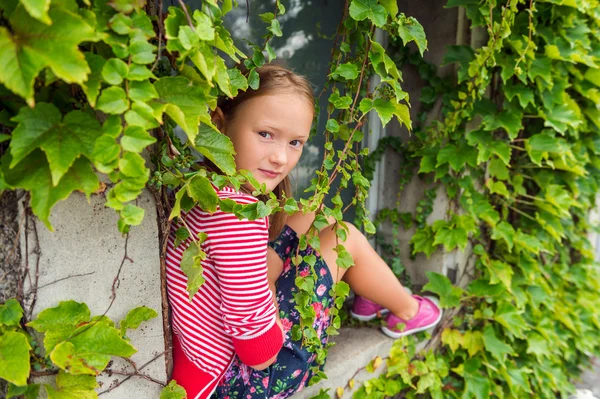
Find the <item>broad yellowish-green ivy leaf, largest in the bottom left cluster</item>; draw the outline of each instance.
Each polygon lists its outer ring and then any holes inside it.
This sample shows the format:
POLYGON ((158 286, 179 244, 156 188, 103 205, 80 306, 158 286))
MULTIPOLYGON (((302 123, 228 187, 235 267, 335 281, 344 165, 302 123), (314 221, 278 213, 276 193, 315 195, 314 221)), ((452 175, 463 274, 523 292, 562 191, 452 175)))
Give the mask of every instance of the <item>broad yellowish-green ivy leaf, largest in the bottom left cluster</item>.
POLYGON ((70 373, 95 376, 106 368, 111 356, 130 357, 135 352, 116 328, 106 323, 90 323, 56 345, 50 358, 70 373))

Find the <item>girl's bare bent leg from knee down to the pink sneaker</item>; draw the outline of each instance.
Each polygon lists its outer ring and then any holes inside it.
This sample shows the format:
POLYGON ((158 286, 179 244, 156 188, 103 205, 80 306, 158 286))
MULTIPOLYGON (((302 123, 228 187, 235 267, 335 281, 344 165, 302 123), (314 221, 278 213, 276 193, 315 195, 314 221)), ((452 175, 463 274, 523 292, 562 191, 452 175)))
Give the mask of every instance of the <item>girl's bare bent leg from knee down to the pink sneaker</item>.
MULTIPOLYGON (((298 234, 304 234, 312 224, 314 216, 296 213, 288 219, 288 225, 298 234)), ((409 320, 419 310, 417 301, 409 295, 389 266, 371 247, 367 238, 352 224, 347 224, 349 232, 345 242, 336 238, 333 226, 321 230, 321 256, 327 263, 334 282, 344 280, 357 294, 373 301, 394 313, 409 320), (354 259, 354 266, 349 269, 337 267, 337 252, 333 250, 343 244, 354 259)))

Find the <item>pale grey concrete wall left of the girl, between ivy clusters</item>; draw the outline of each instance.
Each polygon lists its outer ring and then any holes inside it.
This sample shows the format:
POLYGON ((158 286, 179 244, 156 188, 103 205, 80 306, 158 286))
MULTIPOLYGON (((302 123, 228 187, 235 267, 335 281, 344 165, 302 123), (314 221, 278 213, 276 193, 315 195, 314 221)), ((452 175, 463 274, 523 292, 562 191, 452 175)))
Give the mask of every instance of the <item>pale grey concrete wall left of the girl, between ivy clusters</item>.
MULTIPOLYGON (((114 283, 116 296, 107 316, 115 322, 118 323, 129 310, 138 306, 144 305, 157 311, 158 317, 143 323, 137 330, 130 330, 127 336, 138 349, 132 356, 137 367, 150 362, 140 372, 165 382, 167 375, 154 198, 146 191, 137 200, 137 205, 144 208, 146 214, 140 226, 131 228, 127 239, 117 229, 116 213, 106 208, 104 202, 102 194, 93 195, 88 203, 83 194, 74 193, 52 210, 50 220, 54 232, 48 231, 36 218, 28 216, 29 228, 21 240, 24 267, 27 262, 29 269, 24 292, 32 293, 37 274, 34 319, 41 310, 71 299, 87 303, 92 316, 95 316, 109 308, 114 283), (125 253, 127 258, 123 261, 125 253)), ((32 298, 29 295, 26 303, 30 304, 32 298)), ((121 359, 114 359, 109 367, 116 372, 133 372, 132 366, 121 359)), ((132 377, 112 389, 124 378, 105 373, 99 378, 101 387, 97 391, 106 399, 159 397, 160 385, 141 377, 132 377)), ((48 383, 49 380, 40 382, 48 383)))

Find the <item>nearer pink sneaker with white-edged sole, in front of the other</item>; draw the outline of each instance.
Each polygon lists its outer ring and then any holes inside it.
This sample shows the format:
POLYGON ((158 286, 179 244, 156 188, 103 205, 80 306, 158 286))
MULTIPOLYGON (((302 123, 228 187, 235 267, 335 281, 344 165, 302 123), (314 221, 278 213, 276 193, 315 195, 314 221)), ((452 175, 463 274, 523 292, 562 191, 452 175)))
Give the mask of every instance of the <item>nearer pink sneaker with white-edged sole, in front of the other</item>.
POLYGON ((440 322, 442 319, 442 310, 437 298, 432 296, 420 297, 418 295, 413 295, 413 298, 419 302, 417 315, 410 320, 404 320, 390 313, 385 318, 386 325, 381 327, 381 331, 385 335, 390 338, 400 338, 427 330, 440 322), (403 329, 396 328, 400 323, 405 325, 403 329))

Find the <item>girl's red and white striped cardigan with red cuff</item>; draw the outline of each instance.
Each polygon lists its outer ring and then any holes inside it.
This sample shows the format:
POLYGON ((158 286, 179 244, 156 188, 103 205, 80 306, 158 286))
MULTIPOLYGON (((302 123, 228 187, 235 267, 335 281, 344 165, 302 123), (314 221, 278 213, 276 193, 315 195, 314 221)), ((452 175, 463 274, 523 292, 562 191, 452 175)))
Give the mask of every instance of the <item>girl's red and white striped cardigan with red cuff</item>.
MULTIPOLYGON (((229 187, 216 191, 220 198, 240 204, 257 201, 229 187)), ((181 222, 173 223, 167 245, 173 331, 187 358, 209 374, 212 382, 223 375, 234 354, 250 366, 268 361, 283 344, 267 280, 268 219, 239 220, 220 209, 210 214, 198 207, 182 212, 181 218, 192 233, 208 235, 202 244, 207 255, 202 261, 206 281, 191 302, 185 289, 187 277, 180 268, 191 239, 177 248, 174 245, 181 222)))

